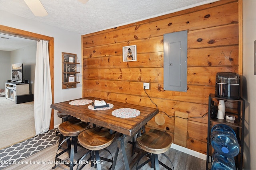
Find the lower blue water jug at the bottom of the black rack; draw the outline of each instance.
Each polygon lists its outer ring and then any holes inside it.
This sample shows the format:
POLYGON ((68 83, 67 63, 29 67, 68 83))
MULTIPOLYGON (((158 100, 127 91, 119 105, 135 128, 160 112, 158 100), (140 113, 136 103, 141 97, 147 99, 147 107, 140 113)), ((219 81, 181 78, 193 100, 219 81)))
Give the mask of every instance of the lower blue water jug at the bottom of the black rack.
POLYGON ((212 155, 211 170, 236 170, 235 159, 223 156, 215 151, 212 155))

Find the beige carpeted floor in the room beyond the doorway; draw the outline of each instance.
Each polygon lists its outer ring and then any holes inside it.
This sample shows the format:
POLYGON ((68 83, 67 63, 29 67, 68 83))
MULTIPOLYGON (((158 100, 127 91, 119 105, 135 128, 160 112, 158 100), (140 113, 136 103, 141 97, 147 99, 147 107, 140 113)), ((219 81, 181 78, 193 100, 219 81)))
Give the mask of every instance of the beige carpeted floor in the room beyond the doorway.
POLYGON ((0 149, 35 135, 34 102, 16 104, 0 97, 0 149))

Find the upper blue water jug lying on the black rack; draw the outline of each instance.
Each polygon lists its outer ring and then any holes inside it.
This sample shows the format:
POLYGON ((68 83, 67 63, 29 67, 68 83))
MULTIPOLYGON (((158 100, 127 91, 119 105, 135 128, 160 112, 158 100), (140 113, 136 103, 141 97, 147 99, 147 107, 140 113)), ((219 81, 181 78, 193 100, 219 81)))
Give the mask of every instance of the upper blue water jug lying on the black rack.
POLYGON ((231 127, 224 124, 212 127, 211 144, 216 152, 226 157, 234 157, 240 151, 236 133, 231 127))

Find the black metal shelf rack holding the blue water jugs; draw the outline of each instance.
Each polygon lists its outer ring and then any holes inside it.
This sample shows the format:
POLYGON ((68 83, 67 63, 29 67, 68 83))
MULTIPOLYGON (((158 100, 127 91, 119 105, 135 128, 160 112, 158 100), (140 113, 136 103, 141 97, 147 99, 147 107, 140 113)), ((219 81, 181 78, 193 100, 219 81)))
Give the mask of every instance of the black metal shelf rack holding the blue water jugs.
POLYGON ((240 145, 240 152, 235 157, 236 169, 242 170, 243 152, 244 152, 244 109, 245 109, 245 102, 242 98, 235 100, 235 99, 218 98, 214 94, 209 95, 206 170, 211 169, 211 163, 212 163, 212 161, 209 159, 209 156, 212 156, 211 151, 213 151, 211 149, 211 141, 210 141, 211 128, 213 125, 220 124, 220 123, 226 124, 232 127, 232 129, 234 129, 234 131, 236 132, 236 137, 240 145), (224 118, 224 120, 210 118, 210 104, 212 101, 218 102, 218 100, 225 100, 226 114, 234 115, 236 117, 236 120, 234 123, 227 122, 226 118, 224 118))

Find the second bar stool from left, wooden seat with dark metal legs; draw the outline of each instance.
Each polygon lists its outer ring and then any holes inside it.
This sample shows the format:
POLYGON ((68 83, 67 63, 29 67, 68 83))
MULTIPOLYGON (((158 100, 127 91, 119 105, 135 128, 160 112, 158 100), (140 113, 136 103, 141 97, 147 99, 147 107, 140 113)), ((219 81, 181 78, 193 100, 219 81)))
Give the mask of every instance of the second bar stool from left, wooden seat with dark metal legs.
MULTIPOLYGON (((71 119, 71 120, 65 121, 63 123, 60 123, 60 125, 58 127, 59 132, 60 132, 60 134, 66 136, 66 139, 64 139, 58 146, 56 156, 55 156, 55 162, 56 161, 66 162, 66 161, 58 158, 58 156, 60 156, 64 152, 68 151, 68 156, 70 157, 70 163, 67 163, 65 165, 69 166, 70 170, 72 170, 74 165, 76 164, 76 163, 74 163, 74 153, 77 152, 77 145, 82 147, 81 145, 77 144, 77 136, 82 131, 89 129, 89 128, 90 128, 90 125, 88 125, 88 123, 85 123, 78 119, 71 119), (70 139, 71 139, 71 143, 70 143, 70 139), (62 144, 65 141, 68 144, 68 148, 63 150, 62 152, 58 153, 58 150, 61 148, 62 144)), ((80 159, 78 159, 77 161, 79 161, 79 160, 80 159)), ((54 169, 55 167, 56 167, 56 164, 54 167, 52 167, 52 169, 54 169)))

